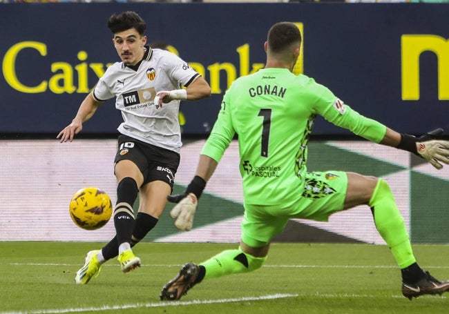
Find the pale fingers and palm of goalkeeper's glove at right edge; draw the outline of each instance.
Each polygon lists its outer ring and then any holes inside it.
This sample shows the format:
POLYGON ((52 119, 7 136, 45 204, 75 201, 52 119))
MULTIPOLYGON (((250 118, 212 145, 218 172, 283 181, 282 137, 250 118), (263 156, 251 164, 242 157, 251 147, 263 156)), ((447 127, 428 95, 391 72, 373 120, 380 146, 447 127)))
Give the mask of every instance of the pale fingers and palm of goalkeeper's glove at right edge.
POLYGON ((442 139, 419 141, 417 142, 417 151, 437 169, 443 168, 442 164, 449 164, 449 141, 442 139))

